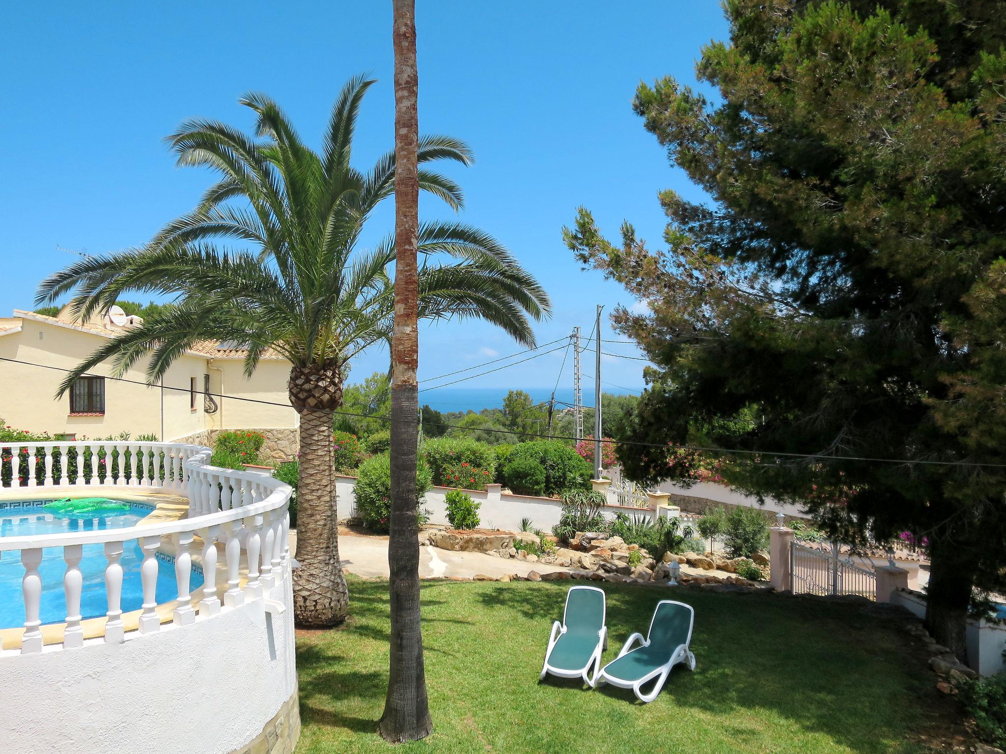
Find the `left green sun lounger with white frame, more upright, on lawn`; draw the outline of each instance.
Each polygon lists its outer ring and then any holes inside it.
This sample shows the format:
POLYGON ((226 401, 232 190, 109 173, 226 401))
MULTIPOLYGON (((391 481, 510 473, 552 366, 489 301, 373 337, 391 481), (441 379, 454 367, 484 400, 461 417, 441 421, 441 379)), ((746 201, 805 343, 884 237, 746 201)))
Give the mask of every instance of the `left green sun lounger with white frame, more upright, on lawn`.
POLYGON ((601 652, 607 646, 605 592, 596 586, 570 587, 562 622, 556 620, 552 624, 538 680, 550 673, 559 678, 582 678, 594 688, 601 668, 601 652))

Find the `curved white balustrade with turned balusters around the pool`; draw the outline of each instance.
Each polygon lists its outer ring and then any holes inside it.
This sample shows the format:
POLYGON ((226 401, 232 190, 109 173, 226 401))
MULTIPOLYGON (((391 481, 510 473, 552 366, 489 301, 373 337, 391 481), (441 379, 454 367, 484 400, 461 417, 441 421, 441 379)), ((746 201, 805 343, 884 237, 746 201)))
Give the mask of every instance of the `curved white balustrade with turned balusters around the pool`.
MULTIPOLYGON (((126 545, 122 538, 128 532, 100 529, 96 525, 74 532, 45 535, 0 537, 0 555, 19 557, 24 566, 22 599, 24 602, 24 632, 21 651, 42 650, 41 594, 42 577, 39 566, 42 549, 60 547, 65 571, 62 578, 66 612, 62 631, 62 647, 86 646, 85 628, 88 619, 81 616, 81 594, 85 589, 81 560, 87 545, 104 547, 105 591, 107 607, 104 620, 104 640, 116 643, 125 640, 128 625, 139 628, 140 634, 160 629, 157 612, 157 553, 168 538, 176 543, 174 576, 177 602, 172 619, 178 626, 210 619, 221 609, 239 607, 244 602, 269 595, 284 585, 289 577, 290 554, 287 544, 290 521, 287 507, 290 488, 275 480, 264 480, 248 472, 217 468, 209 465, 208 448, 183 443, 158 442, 40 442, 0 448, 9 455, 12 480, 8 483, 12 497, 22 486, 18 476, 24 469, 23 486, 88 485, 129 487, 173 491, 189 501, 187 518, 145 526, 132 537, 139 536, 143 559, 139 566, 143 592, 142 608, 135 622, 125 620, 122 609, 124 572, 122 558, 126 545), (21 463, 21 447, 26 448, 25 463, 21 463), (101 456, 105 457, 102 458, 101 456), (54 458, 58 457, 58 470, 54 458), (105 461, 104 463, 102 461, 105 461), (118 474, 113 474, 113 467, 118 474), (102 476, 105 476, 103 481, 102 476), (90 479, 90 483, 88 480, 90 479), (198 534, 201 551, 193 547, 198 534), (223 547, 226 565, 226 590, 223 604, 217 597, 217 547, 223 547), (241 549, 245 550, 247 579, 241 588, 241 549), (195 552, 193 552, 195 550, 195 552), (10 552, 6 552, 10 551, 10 552), (203 585, 197 590, 198 610, 194 609, 190 593, 193 561, 199 558, 203 585)), ((4 490, 0 489, 0 497, 4 490)), ((79 491, 79 494, 89 494, 79 491)), ((91 493, 93 494, 93 493, 91 493)), ((113 495, 114 497, 114 495, 113 495)), ((130 544, 130 547, 133 545, 130 544)), ((222 573, 222 571, 221 571, 222 573)), ((52 585, 49 585, 50 588, 52 585)), ((289 587, 288 587, 289 588, 289 587)), ((172 595, 174 596, 174 595, 172 595)), ((101 626, 101 623, 99 623, 101 626)), ((91 632, 88 628, 88 632, 91 632)))

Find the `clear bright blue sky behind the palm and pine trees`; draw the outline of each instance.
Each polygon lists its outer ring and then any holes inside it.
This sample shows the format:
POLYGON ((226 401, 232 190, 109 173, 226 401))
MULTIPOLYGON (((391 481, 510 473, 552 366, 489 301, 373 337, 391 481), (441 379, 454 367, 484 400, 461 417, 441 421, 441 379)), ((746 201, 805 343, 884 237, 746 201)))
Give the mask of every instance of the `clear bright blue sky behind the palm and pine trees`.
MULTIPOLYGON (((611 236, 628 218, 659 243, 657 192, 699 195, 631 102, 640 80, 693 81, 700 46, 726 37, 719 4, 420 0, 416 12, 421 130, 475 150, 473 167, 445 170, 465 189, 461 218, 505 243, 552 297, 538 342, 574 325, 590 331, 596 304, 631 306, 620 286, 579 269, 561 227, 583 204, 611 236)), ((369 71, 379 81, 363 104, 357 165, 392 146, 390 2, 19 3, 0 13, 0 316, 31 309, 38 280, 74 260, 56 244, 91 253, 140 244, 190 210, 211 176, 175 168, 162 138, 191 117, 250 128, 236 103, 245 91, 276 99, 317 145, 339 88, 369 71)), ((452 214, 432 200, 422 211, 452 214)), ((363 242, 392 218, 389 201, 363 242)), ((607 317, 604 334, 616 337, 607 317)), ((442 323, 423 331, 420 378, 519 350, 489 326, 442 323)), ((464 384, 550 387, 561 357, 464 384)), ((606 357, 603 379, 637 387, 643 366, 606 357)), ((357 360, 351 380, 386 368, 386 351, 375 351, 357 360)))

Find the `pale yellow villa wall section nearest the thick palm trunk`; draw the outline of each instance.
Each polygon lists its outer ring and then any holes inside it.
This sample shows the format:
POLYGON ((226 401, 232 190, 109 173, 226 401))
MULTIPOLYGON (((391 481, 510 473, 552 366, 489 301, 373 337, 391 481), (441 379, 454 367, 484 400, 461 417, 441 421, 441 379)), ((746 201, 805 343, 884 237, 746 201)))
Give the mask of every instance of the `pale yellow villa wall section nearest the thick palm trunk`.
POLYGON ((212 426, 220 429, 273 429, 297 426, 297 412, 290 405, 287 380, 290 363, 260 361, 250 378, 244 376, 244 364, 239 359, 210 361, 211 391, 223 393, 217 399, 220 410, 208 417, 212 426), (222 382, 222 389, 220 383, 222 382), (229 397, 233 396, 233 397, 229 397), (253 398, 256 403, 237 398, 253 398), (282 405, 271 405, 279 403, 282 405))

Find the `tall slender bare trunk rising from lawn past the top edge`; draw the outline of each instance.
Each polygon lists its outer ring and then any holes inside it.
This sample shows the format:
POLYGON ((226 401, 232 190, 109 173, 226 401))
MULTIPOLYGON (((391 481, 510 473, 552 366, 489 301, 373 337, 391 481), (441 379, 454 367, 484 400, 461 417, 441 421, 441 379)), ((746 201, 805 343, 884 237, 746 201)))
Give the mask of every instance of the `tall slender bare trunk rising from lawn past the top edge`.
POLYGON ((433 731, 420 626, 420 540, 415 501, 415 369, 420 225, 416 172, 418 73, 415 66, 415 0, 393 2, 394 42, 394 332, 391 343, 390 673, 378 731, 388 741, 414 741, 433 731))

